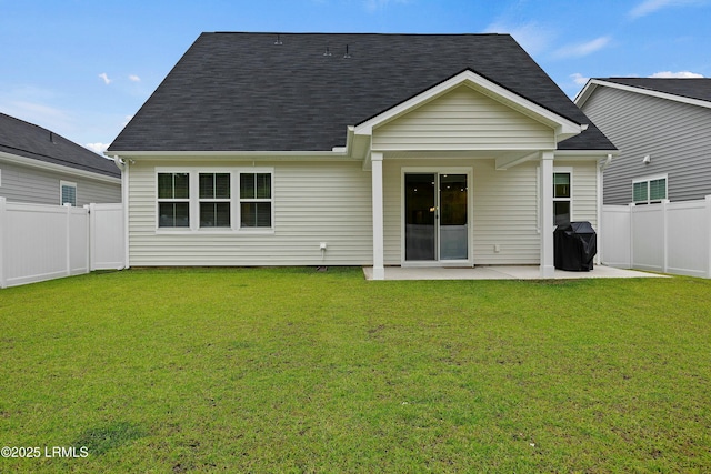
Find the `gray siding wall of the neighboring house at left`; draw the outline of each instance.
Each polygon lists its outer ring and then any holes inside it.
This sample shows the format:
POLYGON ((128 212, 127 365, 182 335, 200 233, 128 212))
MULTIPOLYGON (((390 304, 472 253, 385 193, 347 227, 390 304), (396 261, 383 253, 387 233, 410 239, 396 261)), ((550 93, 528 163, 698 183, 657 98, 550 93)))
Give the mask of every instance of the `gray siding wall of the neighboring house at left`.
POLYGON ((0 196, 8 201, 60 205, 60 182, 77 184, 77 205, 121 202, 121 184, 46 171, 0 160, 0 196))

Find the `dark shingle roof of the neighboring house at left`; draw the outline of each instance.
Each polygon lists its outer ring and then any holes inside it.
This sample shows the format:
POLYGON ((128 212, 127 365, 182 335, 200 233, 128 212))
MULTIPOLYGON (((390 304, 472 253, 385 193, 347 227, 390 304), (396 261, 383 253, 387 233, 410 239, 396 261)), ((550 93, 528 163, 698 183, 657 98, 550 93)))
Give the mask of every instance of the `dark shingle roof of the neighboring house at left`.
POLYGON ((120 178, 112 161, 47 129, 0 113, 0 151, 120 178))

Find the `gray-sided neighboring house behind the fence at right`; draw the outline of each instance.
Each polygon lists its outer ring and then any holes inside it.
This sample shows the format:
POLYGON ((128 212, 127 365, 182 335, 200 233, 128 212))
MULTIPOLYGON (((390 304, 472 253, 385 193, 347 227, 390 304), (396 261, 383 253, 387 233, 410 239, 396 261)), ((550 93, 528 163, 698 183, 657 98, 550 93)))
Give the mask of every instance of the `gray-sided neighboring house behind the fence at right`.
POLYGON ((575 103, 620 149, 605 204, 711 194, 711 79, 591 79, 575 103))

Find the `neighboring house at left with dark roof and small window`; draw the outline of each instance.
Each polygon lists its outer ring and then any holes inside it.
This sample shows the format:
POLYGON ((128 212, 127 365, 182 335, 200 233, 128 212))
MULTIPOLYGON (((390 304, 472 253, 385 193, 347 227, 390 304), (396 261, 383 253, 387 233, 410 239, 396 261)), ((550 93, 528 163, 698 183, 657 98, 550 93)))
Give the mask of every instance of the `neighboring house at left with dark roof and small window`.
POLYGON ((111 160, 47 129, 0 113, 0 196, 36 204, 121 201, 111 160))

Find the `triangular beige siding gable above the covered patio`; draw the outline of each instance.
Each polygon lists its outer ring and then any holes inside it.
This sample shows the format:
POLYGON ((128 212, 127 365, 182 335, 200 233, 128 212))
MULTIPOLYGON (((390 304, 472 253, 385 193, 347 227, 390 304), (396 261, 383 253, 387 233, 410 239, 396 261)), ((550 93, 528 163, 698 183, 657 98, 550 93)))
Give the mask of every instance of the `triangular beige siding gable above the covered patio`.
POLYGON ((462 85, 373 130, 373 150, 554 149, 554 133, 462 85))

